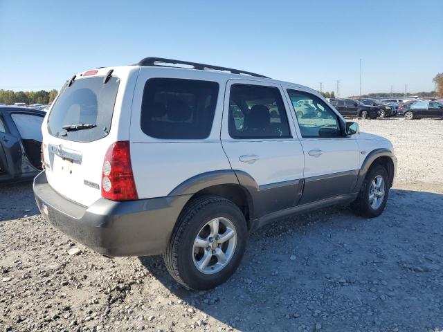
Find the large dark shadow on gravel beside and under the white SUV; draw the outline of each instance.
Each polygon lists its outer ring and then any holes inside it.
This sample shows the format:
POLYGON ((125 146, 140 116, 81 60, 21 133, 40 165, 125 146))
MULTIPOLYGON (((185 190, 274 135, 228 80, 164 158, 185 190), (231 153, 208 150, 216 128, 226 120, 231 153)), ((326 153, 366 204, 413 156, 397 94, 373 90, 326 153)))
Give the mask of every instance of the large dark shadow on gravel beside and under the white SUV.
POLYGON ((439 270, 441 234, 443 194, 390 190, 375 219, 338 206, 257 230, 235 275, 210 291, 179 286, 160 256, 139 259, 172 295, 223 329, 314 331, 320 324, 322 331, 355 331, 377 320, 379 328, 417 331, 443 316, 443 288, 431 273, 439 270))

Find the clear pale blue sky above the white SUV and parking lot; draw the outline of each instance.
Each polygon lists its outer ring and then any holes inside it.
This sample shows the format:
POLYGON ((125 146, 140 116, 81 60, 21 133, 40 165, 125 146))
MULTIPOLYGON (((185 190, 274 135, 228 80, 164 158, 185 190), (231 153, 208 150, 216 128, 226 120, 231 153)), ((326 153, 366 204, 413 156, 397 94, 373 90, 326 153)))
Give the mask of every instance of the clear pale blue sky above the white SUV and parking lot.
POLYGON ((98 66, 170 57, 341 96, 431 91, 443 1, 0 0, 0 89, 60 89, 98 66))

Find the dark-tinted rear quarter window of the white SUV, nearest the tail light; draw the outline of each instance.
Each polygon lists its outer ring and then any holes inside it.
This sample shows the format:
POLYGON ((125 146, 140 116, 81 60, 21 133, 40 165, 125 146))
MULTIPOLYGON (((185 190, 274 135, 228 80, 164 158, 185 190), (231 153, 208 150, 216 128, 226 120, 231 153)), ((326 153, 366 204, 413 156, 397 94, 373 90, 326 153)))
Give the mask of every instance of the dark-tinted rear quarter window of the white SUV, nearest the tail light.
POLYGON ((141 105, 141 130, 161 139, 203 139, 213 127, 217 82, 152 78, 141 105))

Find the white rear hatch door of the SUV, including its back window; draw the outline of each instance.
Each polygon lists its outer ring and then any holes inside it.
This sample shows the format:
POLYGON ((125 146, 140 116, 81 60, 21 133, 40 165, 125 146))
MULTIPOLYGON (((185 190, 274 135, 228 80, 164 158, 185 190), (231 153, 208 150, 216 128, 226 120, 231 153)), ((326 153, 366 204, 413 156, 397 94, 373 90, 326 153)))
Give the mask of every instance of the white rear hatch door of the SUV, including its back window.
MULTIPOLYGON (((101 71, 106 75, 109 68, 101 71)), ((123 98, 118 95, 123 94, 119 89, 124 89, 125 80, 112 73, 105 83, 104 75, 66 83, 42 126, 48 183, 84 206, 100 198, 103 160, 108 147, 118 140, 123 98)))

